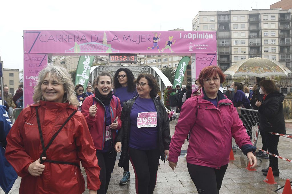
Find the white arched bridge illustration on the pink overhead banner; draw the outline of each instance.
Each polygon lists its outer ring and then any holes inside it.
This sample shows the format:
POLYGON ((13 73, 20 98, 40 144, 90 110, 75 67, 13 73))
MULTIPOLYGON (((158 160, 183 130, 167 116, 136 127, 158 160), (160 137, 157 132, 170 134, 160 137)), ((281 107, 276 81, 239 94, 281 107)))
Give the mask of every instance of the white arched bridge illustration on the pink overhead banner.
POLYGON ((112 48, 111 44, 102 44, 102 43, 82 43, 78 45, 75 43, 74 47, 69 50, 65 50, 65 53, 118 53, 119 50, 112 48))

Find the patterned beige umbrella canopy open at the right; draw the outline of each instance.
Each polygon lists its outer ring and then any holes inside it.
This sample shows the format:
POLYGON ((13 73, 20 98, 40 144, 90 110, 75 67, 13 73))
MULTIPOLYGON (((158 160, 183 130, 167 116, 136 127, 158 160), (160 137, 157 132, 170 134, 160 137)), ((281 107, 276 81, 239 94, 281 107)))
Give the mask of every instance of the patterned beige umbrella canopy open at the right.
POLYGON ((238 61, 224 72, 224 74, 229 74, 232 76, 249 75, 255 77, 265 77, 271 75, 288 76, 288 73, 292 73, 292 71, 278 61, 261 57, 238 61))

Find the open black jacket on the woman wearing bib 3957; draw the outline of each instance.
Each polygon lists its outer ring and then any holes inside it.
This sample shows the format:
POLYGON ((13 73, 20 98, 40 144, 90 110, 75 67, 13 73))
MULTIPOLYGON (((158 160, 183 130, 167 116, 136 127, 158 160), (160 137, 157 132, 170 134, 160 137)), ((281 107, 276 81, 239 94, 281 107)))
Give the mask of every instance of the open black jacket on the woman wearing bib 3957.
MULTIPOLYGON (((131 100, 128 100, 124 103, 124 107, 122 109, 122 127, 118 130, 118 136, 116 138, 116 142, 122 143, 122 152, 119 160, 119 167, 123 167, 124 163, 128 158, 128 145, 129 145, 129 132, 130 132, 130 113, 134 102, 137 96, 131 100)), ((159 129, 158 133, 158 145, 161 160, 164 161, 164 150, 169 150, 169 144, 171 142, 171 137, 169 133, 169 119, 166 113, 165 107, 160 100, 157 98, 152 98, 157 111, 157 127, 159 129)))

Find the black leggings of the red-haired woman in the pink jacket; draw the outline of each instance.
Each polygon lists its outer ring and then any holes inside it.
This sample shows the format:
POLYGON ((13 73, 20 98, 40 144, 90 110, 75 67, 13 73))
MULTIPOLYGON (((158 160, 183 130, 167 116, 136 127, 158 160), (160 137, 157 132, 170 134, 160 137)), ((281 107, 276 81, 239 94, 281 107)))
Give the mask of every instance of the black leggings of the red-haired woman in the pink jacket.
POLYGON ((190 173, 198 193, 218 194, 222 186, 227 166, 228 164, 221 166, 220 169, 215 169, 187 163, 187 170, 190 173))

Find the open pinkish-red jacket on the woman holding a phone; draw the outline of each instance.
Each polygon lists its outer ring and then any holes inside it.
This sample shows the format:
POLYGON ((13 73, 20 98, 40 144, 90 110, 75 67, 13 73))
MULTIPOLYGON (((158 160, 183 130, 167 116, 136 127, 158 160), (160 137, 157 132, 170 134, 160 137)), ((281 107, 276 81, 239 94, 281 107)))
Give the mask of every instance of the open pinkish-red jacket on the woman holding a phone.
MULTIPOLYGON (((95 149, 97 150, 103 150, 105 146, 105 107, 102 104, 102 102, 95 98, 95 94, 93 96, 88 96, 85 98, 83 104, 82 104, 82 114, 85 115, 86 122, 89 128, 89 132, 91 134, 91 137, 93 139, 93 143, 95 146, 95 149), (94 102, 93 102, 94 99, 94 102), (97 106, 97 113, 94 117, 91 117, 89 115, 89 107, 96 104, 97 106)), ((120 129, 122 126, 121 121, 121 103, 120 99, 116 96, 112 96, 112 100, 110 102, 110 116, 112 122, 114 122, 114 119, 116 117, 119 117, 117 120, 118 127, 116 129, 112 129, 112 141, 115 144, 115 140, 117 137, 116 130, 120 129)))

